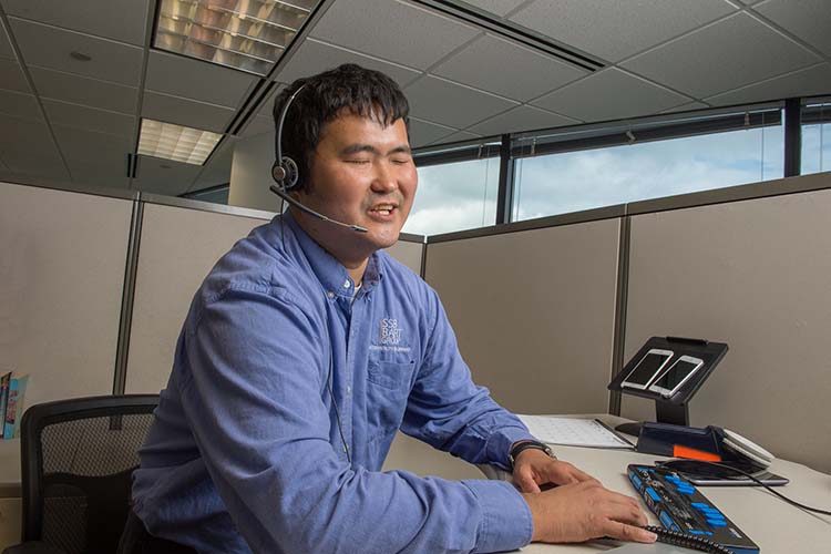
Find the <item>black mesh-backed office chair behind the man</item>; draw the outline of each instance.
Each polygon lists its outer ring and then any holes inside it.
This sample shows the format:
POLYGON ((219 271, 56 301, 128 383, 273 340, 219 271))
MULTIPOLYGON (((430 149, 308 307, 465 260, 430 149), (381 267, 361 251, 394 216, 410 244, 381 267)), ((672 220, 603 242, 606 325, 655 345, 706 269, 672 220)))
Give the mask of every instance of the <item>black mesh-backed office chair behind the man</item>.
POLYGON ((21 421, 23 543, 3 554, 112 554, 158 394, 32 406, 21 421))

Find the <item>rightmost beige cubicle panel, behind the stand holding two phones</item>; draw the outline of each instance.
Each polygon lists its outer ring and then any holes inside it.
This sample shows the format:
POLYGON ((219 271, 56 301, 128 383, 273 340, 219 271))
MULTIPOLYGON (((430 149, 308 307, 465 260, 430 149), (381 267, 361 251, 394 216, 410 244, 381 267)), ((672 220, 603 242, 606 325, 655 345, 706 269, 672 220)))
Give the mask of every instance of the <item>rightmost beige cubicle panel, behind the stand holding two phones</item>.
MULTIPOLYGON (((831 186, 829 174, 811 178, 831 186)), ((728 342, 690 402, 693 424, 727 427, 824 472, 830 233, 828 189, 633 216, 625 346, 628 359, 653 335, 728 342)), ((655 418, 642 399, 622 407, 655 418)))

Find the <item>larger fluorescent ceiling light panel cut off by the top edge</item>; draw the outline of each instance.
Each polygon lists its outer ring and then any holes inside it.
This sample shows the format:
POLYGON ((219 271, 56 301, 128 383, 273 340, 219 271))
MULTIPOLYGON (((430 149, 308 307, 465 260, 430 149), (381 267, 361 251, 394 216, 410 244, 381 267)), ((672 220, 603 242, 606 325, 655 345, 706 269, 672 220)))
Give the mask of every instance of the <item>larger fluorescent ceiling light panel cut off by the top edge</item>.
POLYGON ((318 0, 162 0, 153 45, 265 75, 318 0))

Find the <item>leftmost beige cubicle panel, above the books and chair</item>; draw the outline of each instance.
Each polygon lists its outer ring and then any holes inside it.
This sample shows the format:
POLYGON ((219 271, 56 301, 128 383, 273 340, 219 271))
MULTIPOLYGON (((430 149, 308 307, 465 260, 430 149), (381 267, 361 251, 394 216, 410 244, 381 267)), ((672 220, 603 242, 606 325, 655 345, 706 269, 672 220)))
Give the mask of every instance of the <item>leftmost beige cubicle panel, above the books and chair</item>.
POLYGON ((28 406, 113 387, 133 201, 0 183, 0 368, 28 406))

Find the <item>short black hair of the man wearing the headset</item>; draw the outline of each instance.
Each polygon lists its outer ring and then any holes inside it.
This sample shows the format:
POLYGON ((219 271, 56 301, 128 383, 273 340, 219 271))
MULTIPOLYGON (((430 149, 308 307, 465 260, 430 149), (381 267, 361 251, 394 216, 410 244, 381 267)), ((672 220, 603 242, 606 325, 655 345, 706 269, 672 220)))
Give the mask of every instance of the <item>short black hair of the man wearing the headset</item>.
POLYGON ((311 156, 324 126, 345 111, 375 119, 381 125, 403 120, 409 135, 410 104, 401 88, 380 71, 345 63, 317 75, 298 79, 274 101, 275 140, 283 106, 300 86, 283 125, 283 155, 297 163, 298 189, 307 188, 311 156))

